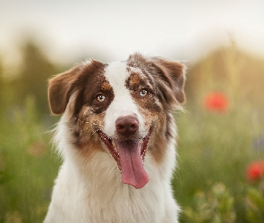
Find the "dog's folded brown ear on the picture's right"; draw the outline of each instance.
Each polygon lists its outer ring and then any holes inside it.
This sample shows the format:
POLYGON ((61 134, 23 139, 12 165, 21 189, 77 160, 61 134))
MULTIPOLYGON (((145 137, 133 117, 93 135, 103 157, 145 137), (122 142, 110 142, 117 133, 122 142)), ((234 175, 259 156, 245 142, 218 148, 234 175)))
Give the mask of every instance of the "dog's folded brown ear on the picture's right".
POLYGON ((172 88, 178 103, 184 103, 185 65, 163 58, 154 58, 155 64, 162 71, 164 79, 172 88))

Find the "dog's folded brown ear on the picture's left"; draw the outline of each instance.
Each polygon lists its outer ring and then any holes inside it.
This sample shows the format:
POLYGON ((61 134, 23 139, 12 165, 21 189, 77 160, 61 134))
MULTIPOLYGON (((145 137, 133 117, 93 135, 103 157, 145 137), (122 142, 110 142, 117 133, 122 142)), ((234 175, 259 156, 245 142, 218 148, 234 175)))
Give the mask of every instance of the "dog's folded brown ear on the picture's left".
POLYGON ((48 103, 52 114, 64 113, 72 95, 74 83, 80 74, 81 66, 76 66, 48 80, 48 103))

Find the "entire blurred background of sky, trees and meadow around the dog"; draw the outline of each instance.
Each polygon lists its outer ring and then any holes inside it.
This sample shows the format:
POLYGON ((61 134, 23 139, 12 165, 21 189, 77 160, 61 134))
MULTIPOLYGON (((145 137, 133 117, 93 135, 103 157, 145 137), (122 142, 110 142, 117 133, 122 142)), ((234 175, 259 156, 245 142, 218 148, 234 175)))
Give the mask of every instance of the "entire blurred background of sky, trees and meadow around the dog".
POLYGON ((47 78, 87 58, 183 60, 181 222, 264 222, 264 2, 0 2, 0 222, 42 222, 60 158, 47 78))

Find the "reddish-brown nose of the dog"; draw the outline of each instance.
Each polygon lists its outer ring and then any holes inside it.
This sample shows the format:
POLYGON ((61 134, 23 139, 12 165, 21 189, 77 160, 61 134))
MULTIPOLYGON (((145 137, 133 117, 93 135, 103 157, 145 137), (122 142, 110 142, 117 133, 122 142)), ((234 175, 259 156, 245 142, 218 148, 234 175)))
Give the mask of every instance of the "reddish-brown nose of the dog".
POLYGON ((123 136, 132 136, 139 129, 139 121, 133 116, 123 116, 115 121, 115 129, 123 136))

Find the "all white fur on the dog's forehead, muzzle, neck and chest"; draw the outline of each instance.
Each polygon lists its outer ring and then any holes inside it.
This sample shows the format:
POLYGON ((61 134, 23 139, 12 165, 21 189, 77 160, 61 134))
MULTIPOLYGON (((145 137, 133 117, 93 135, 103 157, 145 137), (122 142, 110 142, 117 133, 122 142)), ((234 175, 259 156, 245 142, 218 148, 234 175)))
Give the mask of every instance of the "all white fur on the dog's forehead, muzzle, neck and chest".
MULTIPOLYGON (((107 108, 105 116, 104 131, 108 136, 114 135, 115 120, 124 114, 136 115, 141 126, 140 132, 146 131, 136 103, 124 84, 120 85, 128 75, 125 66, 124 62, 114 62, 106 69, 106 78, 114 88, 115 94, 115 99, 107 108)), ((175 203, 170 186, 175 169, 175 139, 168 142, 164 161, 159 166, 147 153, 144 166, 149 174, 149 183, 141 189, 135 189, 122 183, 116 162, 109 153, 96 152, 92 159, 87 161, 69 143, 72 132, 64 124, 70 119, 67 111, 69 108, 59 121, 55 134, 55 145, 63 154, 64 163, 55 180, 52 202, 44 222, 178 222, 179 207, 175 203)), ((176 135, 175 132, 174 134, 176 135)))

